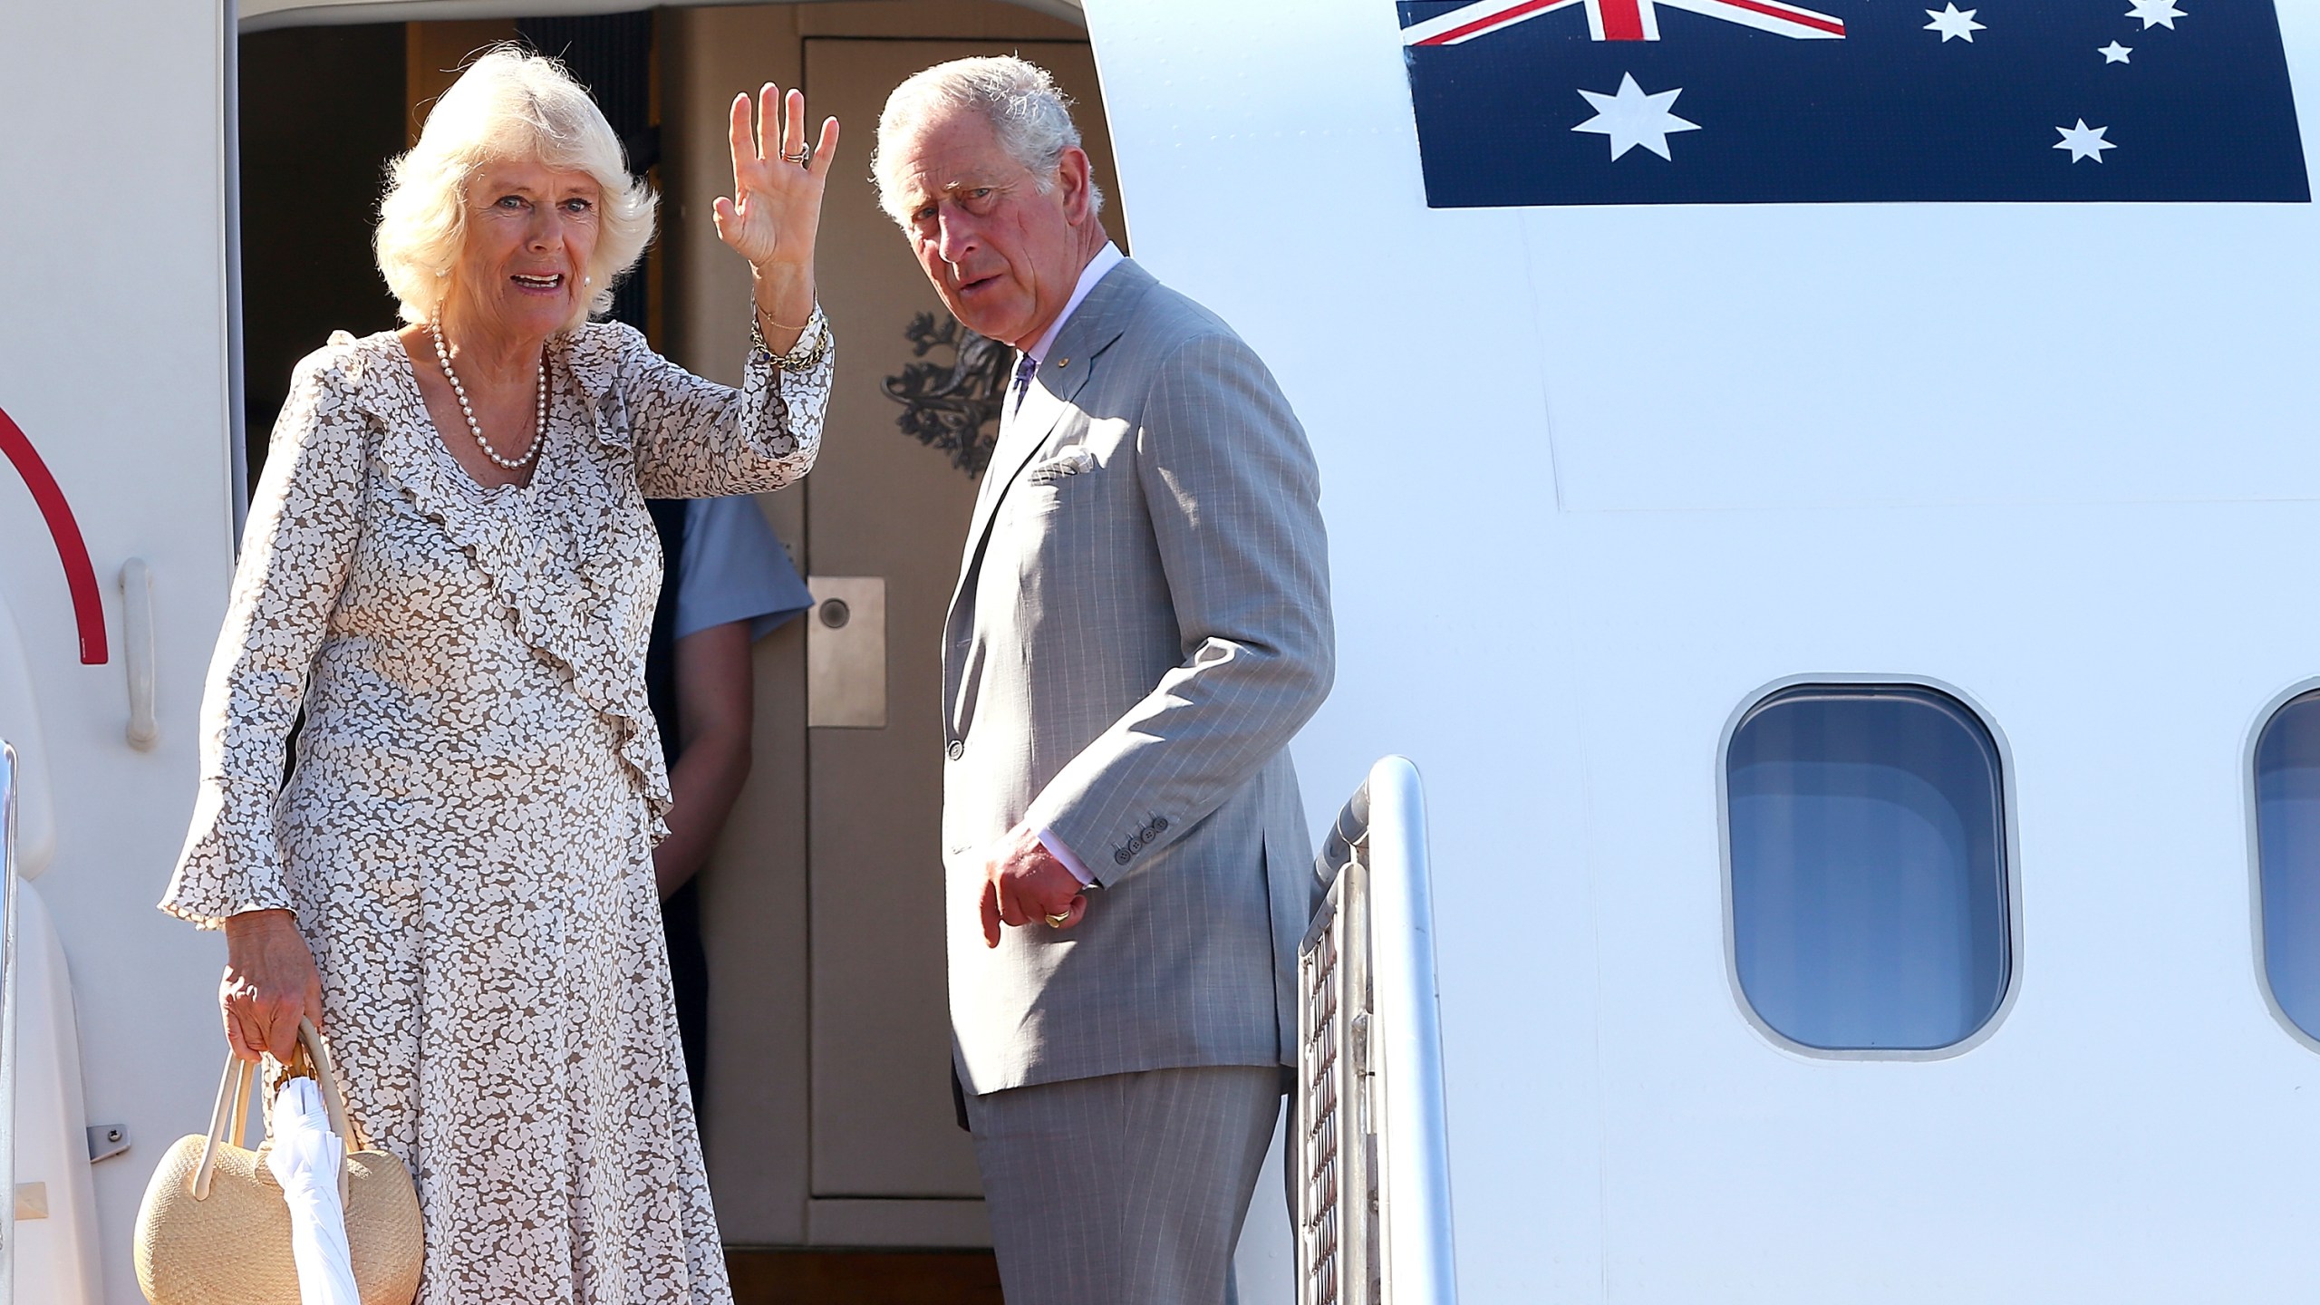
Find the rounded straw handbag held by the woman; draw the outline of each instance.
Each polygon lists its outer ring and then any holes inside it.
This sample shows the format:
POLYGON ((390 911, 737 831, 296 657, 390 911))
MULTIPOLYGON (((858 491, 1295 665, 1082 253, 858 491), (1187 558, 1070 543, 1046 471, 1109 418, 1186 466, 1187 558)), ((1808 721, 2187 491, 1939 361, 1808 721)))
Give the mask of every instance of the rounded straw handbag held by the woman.
MULTIPOLYGON (((362 1305, 411 1305, 420 1291, 422 1249, 411 1173, 385 1152, 353 1149, 329 1047, 304 1019, 299 1052, 295 1061, 311 1061, 322 1089, 329 1129, 348 1145, 339 1196, 362 1305)), ((302 1068, 292 1064, 290 1073, 302 1068)), ((290 1207, 267 1170, 271 1138, 255 1152, 239 1145, 248 1135, 255 1070, 248 1061, 225 1061, 209 1133, 179 1138, 146 1184, 137 1210, 137 1286, 153 1305, 299 1305, 290 1207)))

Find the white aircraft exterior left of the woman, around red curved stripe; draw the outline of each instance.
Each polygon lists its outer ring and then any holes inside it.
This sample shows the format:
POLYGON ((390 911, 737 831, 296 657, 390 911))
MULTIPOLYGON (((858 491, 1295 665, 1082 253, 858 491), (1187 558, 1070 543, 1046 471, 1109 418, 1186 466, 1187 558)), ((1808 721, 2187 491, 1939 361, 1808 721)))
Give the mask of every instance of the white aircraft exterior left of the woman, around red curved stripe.
MULTIPOLYGON (((225 7, 5 5, 0 406, 39 448, 100 576, 114 659, 84 666, 65 576, 0 467, 14 615, 56 813, 39 880, 74 961, 88 1112, 137 1147, 90 1170, 109 1305, 158 1152, 200 1124, 218 1057, 216 936, 153 910, 193 810, 195 706, 232 567, 225 385, 225 7), (160 745, 123 738, 111 578, 153 567, 160 745)), ((51 1207, 56 1205, 51 1187, 51 1207)))

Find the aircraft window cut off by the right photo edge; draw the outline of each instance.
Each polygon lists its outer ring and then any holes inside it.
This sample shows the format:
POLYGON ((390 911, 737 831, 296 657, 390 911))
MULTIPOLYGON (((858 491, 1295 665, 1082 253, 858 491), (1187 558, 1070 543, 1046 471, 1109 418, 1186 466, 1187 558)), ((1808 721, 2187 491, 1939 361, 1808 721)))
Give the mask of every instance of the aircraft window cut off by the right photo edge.
POLYGON ((2271 1001, 2320 1038, 2320 690, 2255 738, 2255 871, 2271 1001))

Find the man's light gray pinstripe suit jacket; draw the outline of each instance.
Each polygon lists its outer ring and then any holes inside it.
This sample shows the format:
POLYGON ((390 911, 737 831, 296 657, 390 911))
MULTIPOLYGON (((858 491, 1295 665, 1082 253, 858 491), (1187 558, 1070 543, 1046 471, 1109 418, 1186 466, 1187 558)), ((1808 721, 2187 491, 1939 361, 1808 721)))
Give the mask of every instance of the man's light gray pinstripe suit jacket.
POLYGON ((1297 416, 1232 327, 1121 262, 1002 425, 944 625, 967 1091, 1295 1064, 1320 885, 1288 741, 1334 673, 1297 416), (1025 820, 1102 887, 988 950, 984 852, 1025 820))

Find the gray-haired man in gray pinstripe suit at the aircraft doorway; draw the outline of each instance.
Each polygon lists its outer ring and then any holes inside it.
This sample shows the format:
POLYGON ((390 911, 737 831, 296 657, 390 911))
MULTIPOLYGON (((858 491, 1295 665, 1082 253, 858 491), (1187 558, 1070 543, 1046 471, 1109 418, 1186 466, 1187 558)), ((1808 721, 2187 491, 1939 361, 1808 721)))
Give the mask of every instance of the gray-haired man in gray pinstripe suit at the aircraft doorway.
POLYGON ((1125 260, 1018 58, 905 81, 877 183, 1021 362, 944 627, 951 1029, 1009 1305, 1218 1305, 1318 901, 1288 741, 1334 673, 1313 450, 1125 260))

